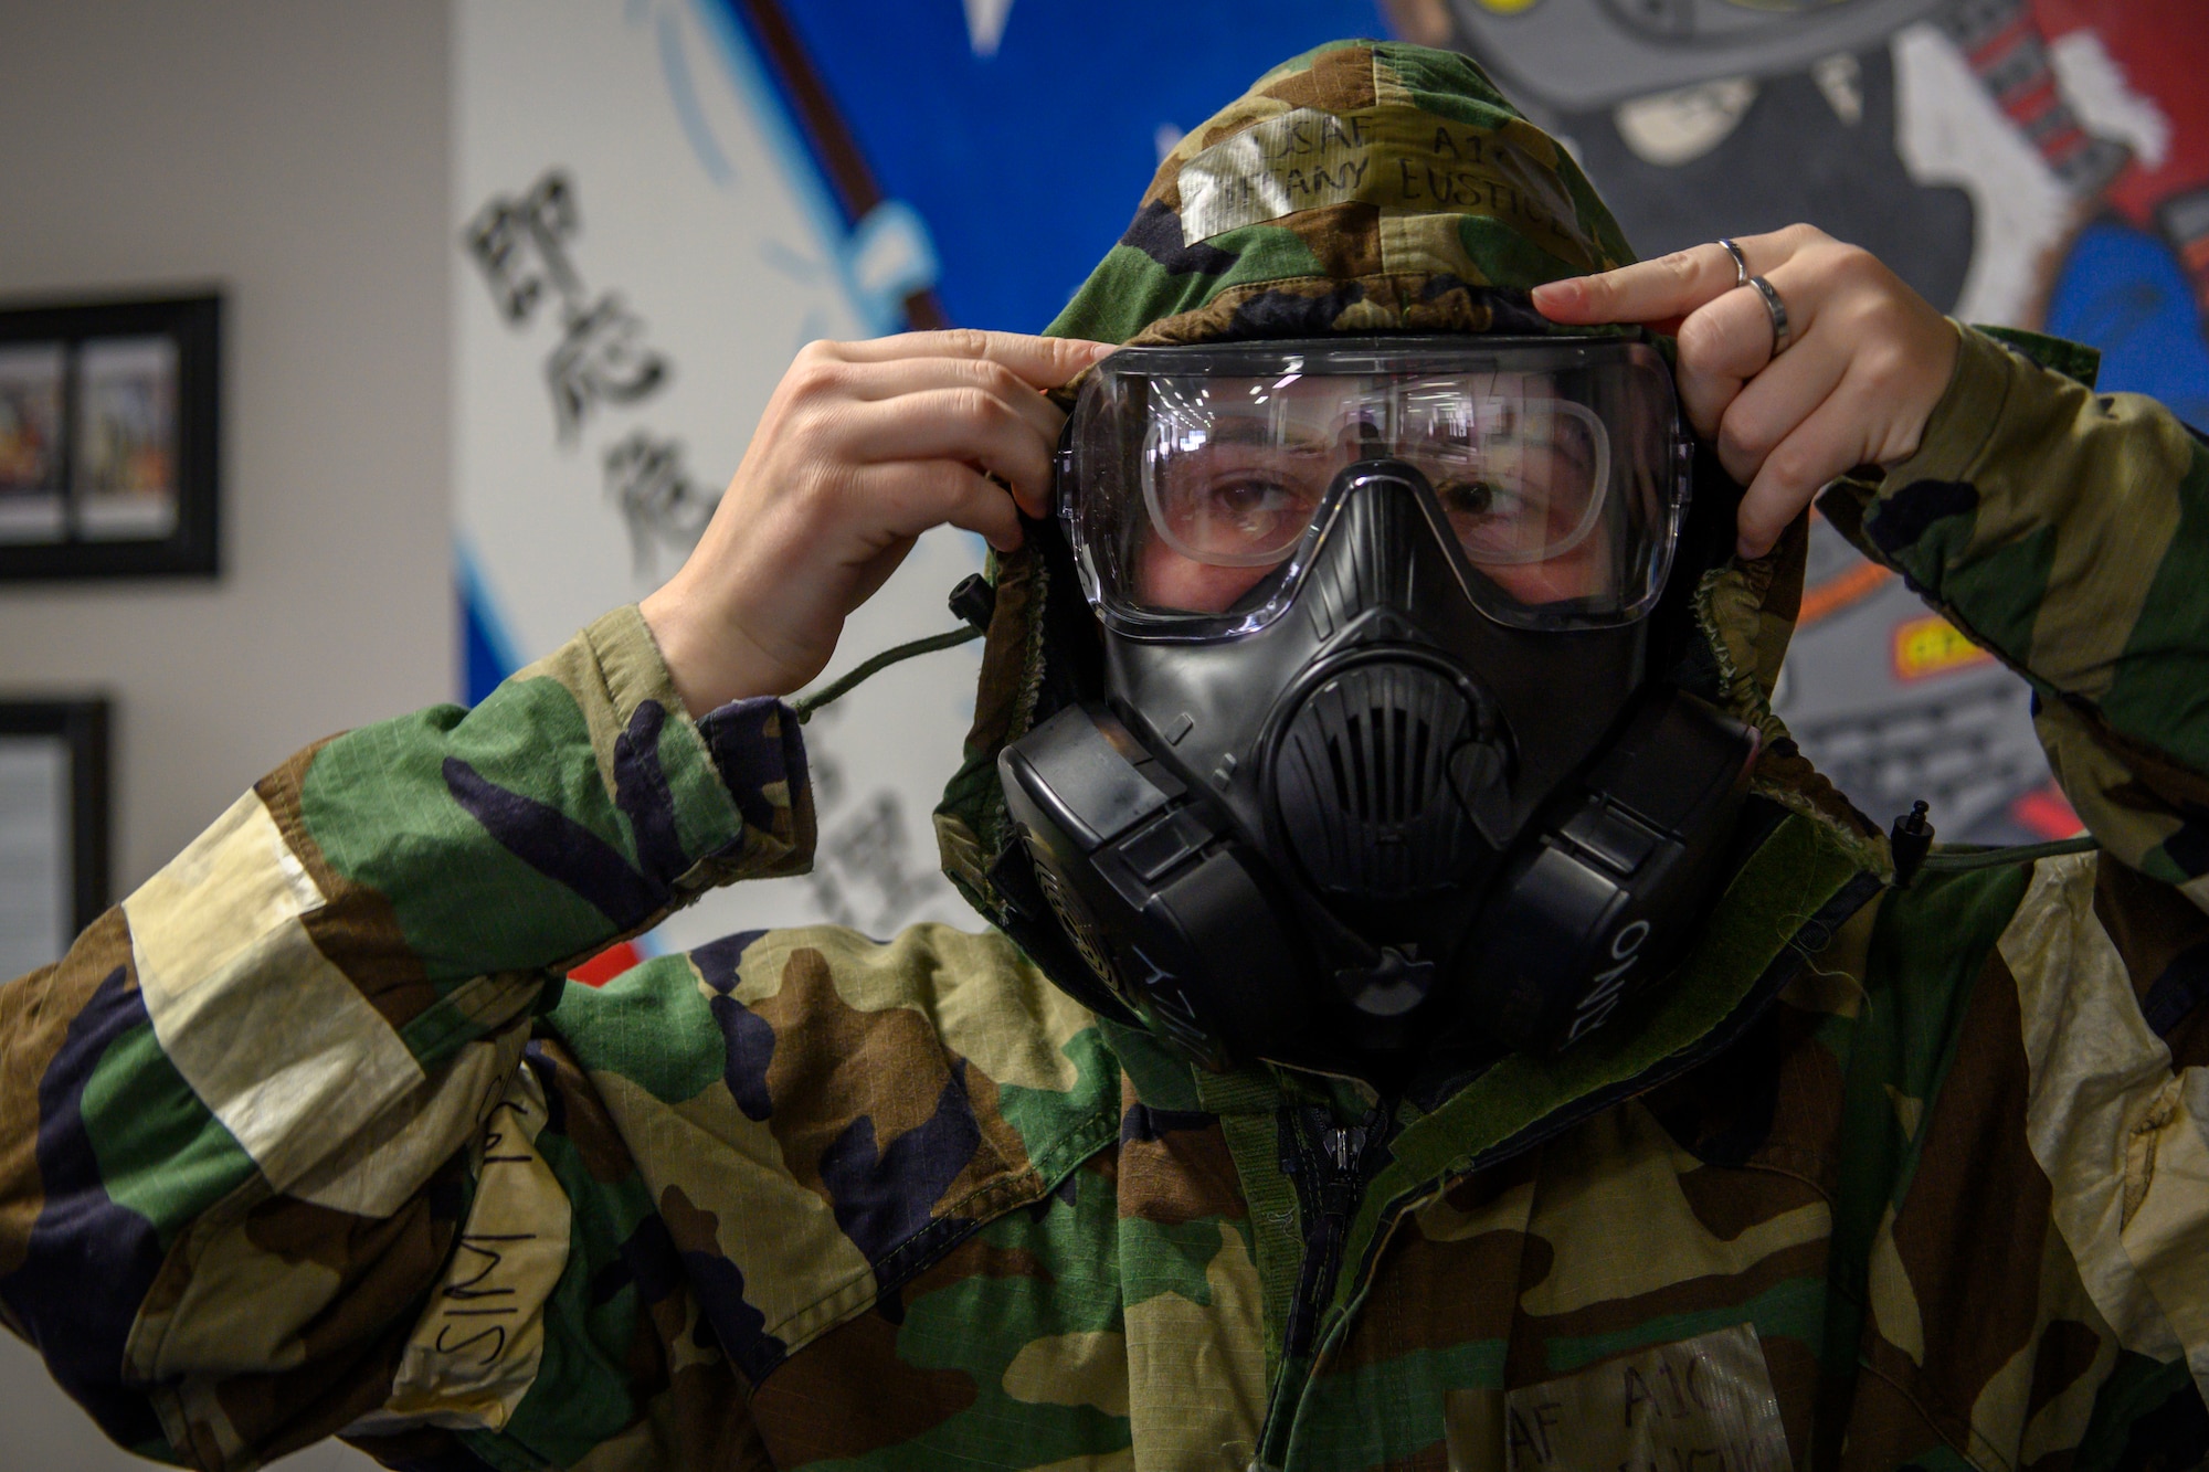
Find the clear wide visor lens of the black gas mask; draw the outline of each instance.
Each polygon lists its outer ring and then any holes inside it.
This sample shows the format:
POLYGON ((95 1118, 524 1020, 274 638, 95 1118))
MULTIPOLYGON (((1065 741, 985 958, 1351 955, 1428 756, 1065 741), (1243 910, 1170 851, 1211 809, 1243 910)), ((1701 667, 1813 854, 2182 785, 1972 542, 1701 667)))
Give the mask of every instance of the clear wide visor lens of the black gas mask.
POLYGON ((1259 628, 1361 462, 1414 466, 1467 597, 1513 628, 1615 628, 1663 590, 1690 444, 1630 338, 1319 338, 1129 347, 1080 387, 1058 506, 1127 632, 1259 628))

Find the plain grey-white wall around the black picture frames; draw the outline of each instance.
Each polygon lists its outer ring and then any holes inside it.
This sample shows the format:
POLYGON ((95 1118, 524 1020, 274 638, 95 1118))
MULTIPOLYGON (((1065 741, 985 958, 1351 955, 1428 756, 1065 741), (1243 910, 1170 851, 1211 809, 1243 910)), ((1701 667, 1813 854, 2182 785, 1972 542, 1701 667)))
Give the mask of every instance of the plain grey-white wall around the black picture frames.
MULTIPOLYGON (((228 294, 221 581, 0 586, 0 692, 117 701, 117 893, 455 690, 446 69, 444 0, 0 0, 0 298, 228 294)), ((9 1470, 144 1465, 7 1335, 0 1428, 9 1470)))

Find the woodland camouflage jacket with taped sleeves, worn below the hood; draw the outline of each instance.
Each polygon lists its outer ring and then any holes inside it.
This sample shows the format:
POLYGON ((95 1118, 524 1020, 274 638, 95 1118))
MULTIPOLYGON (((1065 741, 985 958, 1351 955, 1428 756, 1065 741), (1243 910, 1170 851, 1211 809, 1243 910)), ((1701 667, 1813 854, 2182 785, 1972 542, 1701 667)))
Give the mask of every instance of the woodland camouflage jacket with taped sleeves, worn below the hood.
MULTIPOLYGON (((1277 82, 1354 113, 1352 60, 1277 82)), ((1131 239, 1171 292, 1253 254, 1151 206, 1131 239)), ((1144 320, 1493 305, 1266 250, 1288 285, 1144 320)), ((1769 712, 1796 528, 1703 577, 1683 674, 1765 725, 1761 840, 1562 1059, 1387 1101, 1199 1072, 1043 939, 939 926, 563 986, 813 842, 789 712, 685 718, 619 610, 298 754, 0 988, 0 1319, 117 1441, 225 1472, 329 1434, 437 1472, 2196 1465, 2209 446, 1966 332, 1922 449, 1825 511, 2032 681, 2092 840, 1886 884, 1769 712)), ((976 774, 1051 606, 1003 564, 941 813, 1027 937, 976 774)))

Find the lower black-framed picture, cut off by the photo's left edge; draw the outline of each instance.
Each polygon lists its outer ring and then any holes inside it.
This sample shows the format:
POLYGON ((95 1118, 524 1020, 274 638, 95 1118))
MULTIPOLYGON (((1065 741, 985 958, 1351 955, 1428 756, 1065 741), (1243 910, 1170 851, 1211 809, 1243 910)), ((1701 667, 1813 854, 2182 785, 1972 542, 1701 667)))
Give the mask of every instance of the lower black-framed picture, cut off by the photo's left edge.
POLYGON ((0 701, 0 981, 108 908, 108 703, 0 701))

